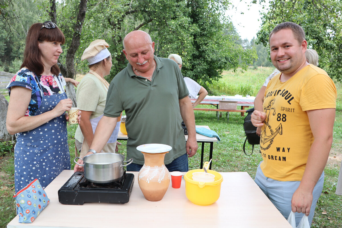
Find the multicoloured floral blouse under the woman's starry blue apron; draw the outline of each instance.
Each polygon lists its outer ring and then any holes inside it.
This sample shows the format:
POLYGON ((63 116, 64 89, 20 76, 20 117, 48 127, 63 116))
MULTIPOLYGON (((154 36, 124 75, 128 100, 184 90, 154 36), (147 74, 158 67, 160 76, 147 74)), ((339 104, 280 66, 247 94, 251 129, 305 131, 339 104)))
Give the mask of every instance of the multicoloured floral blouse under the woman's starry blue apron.
POLYGON ((32 91, 31 100, 25 116, 34 116, 42 102, 42 97, 64 93, 63 86, 65 85, 66 82, 61 73, 58 77, 54 75, 36 75, 29 69, 22 68, 14 75, 6 88, 9 90, 9 95, 11 95, 12 86, 23 86, 30 89, 32 91))

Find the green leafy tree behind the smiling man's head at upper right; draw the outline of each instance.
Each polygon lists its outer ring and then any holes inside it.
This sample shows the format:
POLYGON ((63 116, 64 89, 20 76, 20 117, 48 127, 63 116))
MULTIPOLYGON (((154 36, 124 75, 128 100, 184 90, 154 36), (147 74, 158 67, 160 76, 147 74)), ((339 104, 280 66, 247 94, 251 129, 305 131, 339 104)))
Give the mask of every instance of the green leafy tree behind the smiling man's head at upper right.
POLYGON ((342 81, 342 3, 340 0, 271 0, 257 33, 267 45, 268 35, 281 22, 299 24, 305 31, 308 48, 319 55, 319 67, 342 81))

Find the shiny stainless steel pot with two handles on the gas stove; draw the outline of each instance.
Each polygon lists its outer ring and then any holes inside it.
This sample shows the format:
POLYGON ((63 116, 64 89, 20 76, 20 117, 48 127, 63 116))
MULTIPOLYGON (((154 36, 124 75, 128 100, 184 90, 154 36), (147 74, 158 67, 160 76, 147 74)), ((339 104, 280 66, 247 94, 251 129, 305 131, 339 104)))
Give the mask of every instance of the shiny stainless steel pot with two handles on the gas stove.
POLYGON ((133 162, 133 158, 123 161, 124 157, 118 153, 94 153, 84 156, 83 159, 77 157, 74 162, 84 168, 84 177, 93 183, 110 183, 123 176, 123 166, 133 162), (83 164, 76 162, 81 159, 83 164), (129 162, 124 165, 124 162, 129 162))

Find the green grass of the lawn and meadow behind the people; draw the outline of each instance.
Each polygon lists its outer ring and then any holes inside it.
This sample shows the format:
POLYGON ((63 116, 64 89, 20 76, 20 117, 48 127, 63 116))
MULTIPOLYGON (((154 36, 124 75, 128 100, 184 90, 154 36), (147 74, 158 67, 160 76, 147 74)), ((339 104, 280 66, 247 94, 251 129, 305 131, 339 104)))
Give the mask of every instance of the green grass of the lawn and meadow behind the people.
MULTIPOLYGON (((236 73, 224 72, 223 78, 218 82, 221 84, 232 85, 233 88, 229 91, 218 91, 215 95, 226 94, 244 94, 256 95, 260 86, 263 84, 266 76, 273 71, 273 68, 260 68, 258 70, 249 69, 245 73, 240 71, 236 73), (242 91, 240 87, 244 84, 253 85, 252 92, 242 91), (235 88, 235 89, 234 89, 235 88), (254 92, 253 92, 254 91, 254 92), (256 91, 256 92, 255 92, 256 91)), ((214 90, 213 85, 211 90, 214 90)), ((246 86, 247 88, 247 86, 246 86)), ((342 88, 341 84, 337 83, 338 88, 338 102, 336 111, 336 121, 334 124, 334 139, 332 150, 342 152, 342 88)), ((205 106, 203 106, 205 107, 205 106)), ((209 106, 208 106, 209 107, 209 106)), ((242 152, 242 145, 245 142, 245 134, 242 127, 244 117, 240 113, 229 113, 229 122, 222 113, 222 117, 217 120, 215 112, 195 111, 195 118, 197 125, 208 125, 210 129, 216 131, 220 137, 221 142, 214 143, 212 169, 219 172, 248 172, 254 178, 257 165, 262 160, 259 149, 254 148, 251 156, 247 156, 242 152)), ((72 168, 74 167, 75 157, 75 140, 73 135, 75 133, 77 124, 68 126, 68 144, 70 149, 70 162, 72 168)), ((119 153, 126 156, 126 141, 121 141, 119 146, 119 153)), ((200 164, 200 149, 201 143, 198 144, 199 149, 195 156, 189 159, 189 169, 198 169, 200 164)), ((251 151, 251 147, 246 148, 251 151)), ((205 144, 205 161, 209 161, 209 145, 205 144)), ((12 195, 13 190, 13 153, 11 156, 0 157, 0 213, 1 222, 0 227, 3 228, 15 216, 15 205, 12 195)), ((316 211, 313 219, 313 228, 340 228, 342 227, 342 196, 335 194, 337 178, 339 174, 339 165, 327 165, 325 168, 325 183, 321 197, 318 200, 316 211)), ((38 218, 39 219, 39 218, 38 218)))

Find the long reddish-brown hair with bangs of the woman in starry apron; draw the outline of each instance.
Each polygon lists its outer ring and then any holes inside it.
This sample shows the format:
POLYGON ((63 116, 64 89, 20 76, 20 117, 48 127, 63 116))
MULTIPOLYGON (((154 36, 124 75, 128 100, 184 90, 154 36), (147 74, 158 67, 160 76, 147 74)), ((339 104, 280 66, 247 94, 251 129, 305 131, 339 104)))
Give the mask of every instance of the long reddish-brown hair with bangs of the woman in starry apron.
MULTIPOLYGON (((38 42, 43 41, 57 41, 62 44, 65 43, 65 37, 61 29, 55 28, 42 28, 43 23, 35 23, 31 25, 27 32, 26 46, 24 51, 24 61, 21 68, 26 67, 27 69, 41 74, 44 71, 44 66, 41 61, 41 53, 38 48, 38 42)), ((51 72, 58 76, 60 73, 60 68, 57 64, 51 67, 51 72)))

